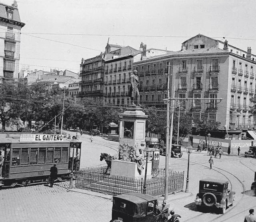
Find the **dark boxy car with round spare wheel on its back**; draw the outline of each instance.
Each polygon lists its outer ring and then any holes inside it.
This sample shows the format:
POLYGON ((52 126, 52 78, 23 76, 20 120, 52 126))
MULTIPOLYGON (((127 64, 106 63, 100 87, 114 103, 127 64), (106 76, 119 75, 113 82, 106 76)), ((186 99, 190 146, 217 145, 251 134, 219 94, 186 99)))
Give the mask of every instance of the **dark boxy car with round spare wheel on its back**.
POLYGON ((199 193, 196 195, 196 207, 215 207, 222 214, 234 201, 234 191, 228 189, 228 180, 206 178, 199 181, 199 193))

